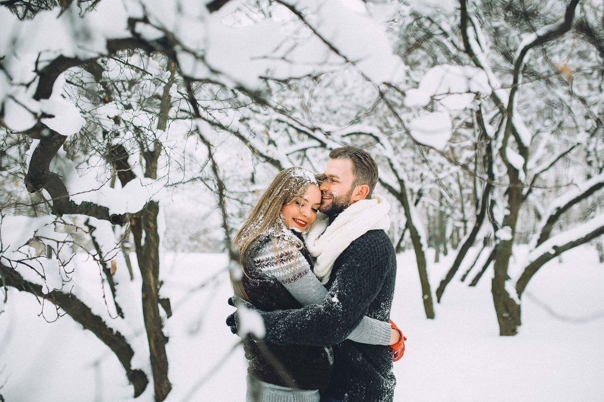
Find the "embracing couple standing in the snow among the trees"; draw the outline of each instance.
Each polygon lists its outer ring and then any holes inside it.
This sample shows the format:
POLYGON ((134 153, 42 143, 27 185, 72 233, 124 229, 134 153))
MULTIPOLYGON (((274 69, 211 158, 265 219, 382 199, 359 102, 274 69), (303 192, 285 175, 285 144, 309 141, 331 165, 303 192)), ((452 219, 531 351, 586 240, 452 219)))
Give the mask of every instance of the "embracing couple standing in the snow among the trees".
MULTIPOLYGON (((321 175, 279 172, 235 237, 234 290, 266 328, 244 343, 248 402, 393 400, 405 338, 390 321, 390 206, 372 194, 370 154, 345 146, 329 157, 321 175)), ((237 312, 226 322, 237 333, 237 312)))

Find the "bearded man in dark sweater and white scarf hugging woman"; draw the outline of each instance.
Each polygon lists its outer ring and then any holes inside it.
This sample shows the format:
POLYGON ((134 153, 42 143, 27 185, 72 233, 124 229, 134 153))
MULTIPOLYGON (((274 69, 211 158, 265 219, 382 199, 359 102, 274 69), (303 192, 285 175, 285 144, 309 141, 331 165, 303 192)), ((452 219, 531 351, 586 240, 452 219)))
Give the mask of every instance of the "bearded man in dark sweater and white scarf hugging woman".
MULTIPOLYGON (((259 312, 265 340, 273 344, 333 345, 333 375, 326 401, 390 402, 396 379, 387 346, 345 339, 364 315, 390 319, 396 276, 388 238, 388 203, 371 197, 377 165, 360 148, 345 146, 329 154, 321 183, 319 219, 307 235, 317 257, 313 270, 328 289, 323 304, 295 310, 259 312)), ((231 327, 236 324, 231 319, 231 327)))

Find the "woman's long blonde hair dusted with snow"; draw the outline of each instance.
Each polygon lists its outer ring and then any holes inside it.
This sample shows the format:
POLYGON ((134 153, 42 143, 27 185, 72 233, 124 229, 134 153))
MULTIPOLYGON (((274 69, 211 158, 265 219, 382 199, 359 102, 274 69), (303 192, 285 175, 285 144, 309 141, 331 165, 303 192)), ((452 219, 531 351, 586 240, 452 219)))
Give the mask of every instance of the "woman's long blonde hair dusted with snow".
POLYGON ((303 196, 311 184, 318 186, 315 175, 303 168, 283 169, 275 176, 235 236, 242 262, 254 240, 271 230, 275 234, 281 230, 281 208, 303 196))

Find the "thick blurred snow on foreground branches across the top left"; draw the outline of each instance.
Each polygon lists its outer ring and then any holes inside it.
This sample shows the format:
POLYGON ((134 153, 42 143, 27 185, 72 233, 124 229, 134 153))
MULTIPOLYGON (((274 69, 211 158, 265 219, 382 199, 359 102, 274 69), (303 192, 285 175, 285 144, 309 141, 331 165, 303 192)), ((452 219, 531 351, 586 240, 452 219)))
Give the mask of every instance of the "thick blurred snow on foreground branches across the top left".
MULTIPOLYGON (((42 122, 68 136, 82 127, 74 105, 60 100, 57 78, 123 49, 163 52, 176 60, 182 76, 249 93, 265 90, 265 80, 334 71, 353 63, 376 83, 397 80, 405 68, 393 54, 385 31, 367 13, 346 2, 281 2, 295 15, 314 14, 292 25, 290 16, 227 25, 240 1, 165 2, 103 0, 80 16, 77 2, 41 11, 19 21, 0 9, 0 117, 11 130, 25 131, 42 122), (223 7, 224 6, 224 7, 223 7), (214 10, 216 12, 210 13, 214 10), (111 24, 106 21, 110 20, 111 24), (351 30, 351 27, 355 27, 351 30), (353 36, 351 39, 350 36, 353 36), (50 101, 42 101, 50 99, 50 101), (61 124, 68 121, 69 124, 61 124)), ((60 81, 60 80, 59 80, 60 81)))

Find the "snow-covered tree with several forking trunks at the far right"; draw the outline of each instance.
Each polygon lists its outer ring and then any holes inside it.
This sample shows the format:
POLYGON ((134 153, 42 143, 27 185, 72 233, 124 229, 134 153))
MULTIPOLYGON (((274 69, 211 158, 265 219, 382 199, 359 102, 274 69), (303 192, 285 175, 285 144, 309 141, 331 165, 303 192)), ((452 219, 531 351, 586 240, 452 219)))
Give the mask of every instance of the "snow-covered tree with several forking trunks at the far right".
MULTIPOLYGON (((474 166, 470 171, 475 175, 476 218, 436 294, 440 300, 461 266, 467 268, 464 277, 473 266, 481 266, 477 280, 492 264, 493 302, 503 335, 518 330, 519 298, 536 270, 604 230, 595 224, 602 219, 591 208, 601 199, 603 186, 602 162, 595 156, 596 149, 601 151, 598 137, 603 130, 601 79, 594 80, 602 76, 601 46, 596 43, 602 36, 597 19, 603 10, 596 3, 520 2, 503 7, 497 1, 460 1, 448 4, 459 11, 453 19, 435 8, 419 7, 413 23, 405 27, 413 38, 402 41, 411 68, 432 67, 434 74, 443 62, 455 64, 455 69, 471 65, 478 72, 472 77, 480 73, 490 87, 481 87, 487 96, 463 112, 449 145, 458 149, 454 162, 460 168, 474 166), (434 55, 426 61, 422 56, 428 50, 434 55), (464 134, 466 125, 474 134, 464 134), (474 148, 474 155, 460 153, 463 147, 474 148), (572 207, 581 212, 572 213, 572 207), (587 222, 577 225, 579 221, 587 222), (539 247, 554 228, 556 240, 539 247), (535 231, 536 237, 530 236, 535 231), (488 250, 471 256, 471 245, 481 237, 488 250), (515 242, 528 243, 532 250, 524 266, 510 266, 515 242)), ((460 96, 460 91, 446 75, 426 80, 428 74, 419 89, 428 84, 437 89, 425 104, 450 109, 445 102, 455 100, 449 93, 460 96)))

